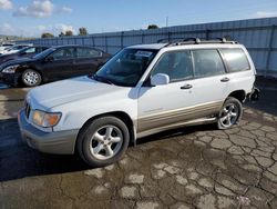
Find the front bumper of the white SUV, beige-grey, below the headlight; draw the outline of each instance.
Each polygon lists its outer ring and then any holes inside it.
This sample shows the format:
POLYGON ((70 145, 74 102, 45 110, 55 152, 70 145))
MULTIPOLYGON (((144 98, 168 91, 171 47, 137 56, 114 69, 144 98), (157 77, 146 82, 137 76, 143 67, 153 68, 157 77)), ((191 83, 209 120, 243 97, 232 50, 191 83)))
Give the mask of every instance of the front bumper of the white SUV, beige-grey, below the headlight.
POLYGON ((57 132, 41 131, 27 121, 24 110, 19 112, 18 122, 22 140, 27 142, 29 147, 47 153, 74 153, 79 130, 57 132))

